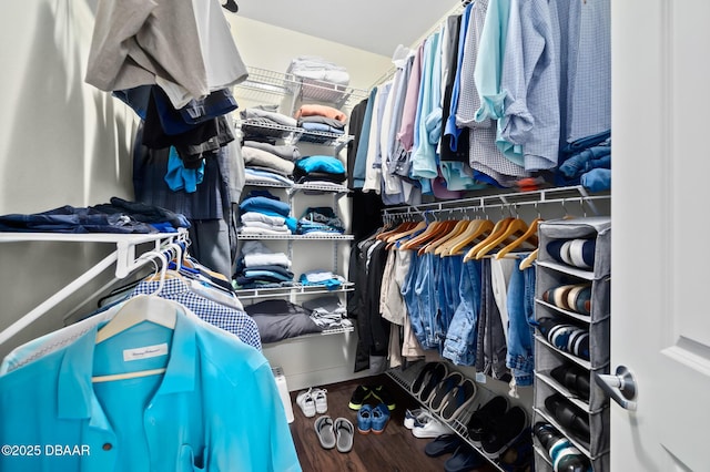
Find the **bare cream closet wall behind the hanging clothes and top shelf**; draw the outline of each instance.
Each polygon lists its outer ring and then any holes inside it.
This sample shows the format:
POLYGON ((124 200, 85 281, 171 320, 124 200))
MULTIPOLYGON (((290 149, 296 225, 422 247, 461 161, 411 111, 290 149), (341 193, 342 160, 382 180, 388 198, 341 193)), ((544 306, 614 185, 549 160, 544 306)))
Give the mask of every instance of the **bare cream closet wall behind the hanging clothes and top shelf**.
MULTIPOLYGON (((132 198, 132 110, 83 82, 97 0, 32 0, 0 6, 0 214, 89 206, 132 198)), ((285 72, 300 54, 322 55, 348 69, 367 89, 389 59, 227 13, 244 61, 285 72)), ((0 330, 108 254, 105 246, 0 243, 0 330)), ((110 276, 110 270, 106 271, 110 276)), ((104 277, 105 278, 105 277, 104 277)), ((62 326, 80 293, 0 346, 62 326)), ((94 304, 88 308, 95 307, 94 304)))

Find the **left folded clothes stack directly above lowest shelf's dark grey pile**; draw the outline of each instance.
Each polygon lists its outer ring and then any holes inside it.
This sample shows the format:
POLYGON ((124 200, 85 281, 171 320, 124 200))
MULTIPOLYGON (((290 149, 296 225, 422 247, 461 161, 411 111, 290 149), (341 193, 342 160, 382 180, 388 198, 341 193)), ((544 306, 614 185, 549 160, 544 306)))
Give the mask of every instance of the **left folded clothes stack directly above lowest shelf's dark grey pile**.
POLYGON ((274 253, 263 243, 247 240, 236 263, 234 288, 256 289, 293 285, 291 259, 284 253, 274 253))

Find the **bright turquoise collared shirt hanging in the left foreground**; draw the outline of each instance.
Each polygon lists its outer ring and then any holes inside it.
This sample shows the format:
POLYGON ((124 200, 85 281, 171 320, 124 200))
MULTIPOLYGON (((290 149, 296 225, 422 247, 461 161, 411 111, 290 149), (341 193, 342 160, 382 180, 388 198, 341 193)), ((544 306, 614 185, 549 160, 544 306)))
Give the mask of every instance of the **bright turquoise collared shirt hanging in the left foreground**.
POLYGON ((144 322, 95 345, 94 326, 0 377, 0 444, 17 447, 0 470, 300 471, 266 358, 176 309, 174 330, 144 322))

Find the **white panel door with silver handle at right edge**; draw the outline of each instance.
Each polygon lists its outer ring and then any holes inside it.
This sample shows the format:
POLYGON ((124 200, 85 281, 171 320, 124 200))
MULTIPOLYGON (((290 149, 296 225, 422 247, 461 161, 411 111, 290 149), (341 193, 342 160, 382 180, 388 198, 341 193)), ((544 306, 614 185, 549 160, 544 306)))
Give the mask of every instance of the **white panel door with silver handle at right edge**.
POLYGON ((611 470, 710 471, 710 2, 611 4, 611 470))

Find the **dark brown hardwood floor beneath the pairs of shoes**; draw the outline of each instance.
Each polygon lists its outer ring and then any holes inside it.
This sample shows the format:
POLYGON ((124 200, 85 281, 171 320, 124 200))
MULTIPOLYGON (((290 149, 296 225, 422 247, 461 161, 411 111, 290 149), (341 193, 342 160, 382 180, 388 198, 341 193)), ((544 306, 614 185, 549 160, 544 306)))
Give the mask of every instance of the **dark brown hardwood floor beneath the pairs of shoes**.
MULTIPOLYGON (((382 374, 329 386, 314 386, 327 389, 328 411, 325 414, 333 419, 347 418, 357 429, 357 412, 347 407, 351 396, 359 383, 384 384, 396 399, 396 408, 382 434, 359 434, 355 431, 353 450, 347 453, 337 449, 325 450, 321 447, 315 433, 314 418, 306 418, 295 404, 297 391, 291 392, 294 409, 294 421, 291 432, 296 445, 301 466, 304 472, 357 471, 357 472, 428 472, 443 471, 444 463, 452 454, 429 458, 424 452, 432 439, 419 439, 404 427, 404 414, 407 409, 418 408, 418 402, 389 377, 382 374)), ((479 471, 495 471, 484 468, 479 471)))

